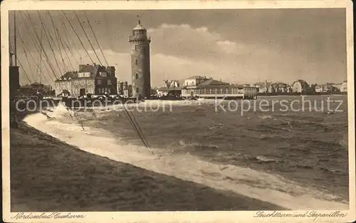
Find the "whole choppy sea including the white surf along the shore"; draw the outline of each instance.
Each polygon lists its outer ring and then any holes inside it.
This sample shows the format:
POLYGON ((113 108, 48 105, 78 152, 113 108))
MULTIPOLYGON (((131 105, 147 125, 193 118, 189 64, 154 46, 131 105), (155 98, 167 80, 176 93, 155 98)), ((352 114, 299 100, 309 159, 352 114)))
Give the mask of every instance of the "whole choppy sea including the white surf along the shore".
POLYGON ((346 96, 333 96, 345 100, 330 103, 340 107, 334 112, 322 105, 327 96, 308 99, 318 111, 256 108, 261 100, 297 100, 301 108, 298 96, 241 101, 230 110, 229 101, 214 100, 132 105, 150 150, 118 108, 70 113, 60 105, 45 112, 51 118, 39 113, 25 121, 82 150, 288 209, 348 209, 346 96))

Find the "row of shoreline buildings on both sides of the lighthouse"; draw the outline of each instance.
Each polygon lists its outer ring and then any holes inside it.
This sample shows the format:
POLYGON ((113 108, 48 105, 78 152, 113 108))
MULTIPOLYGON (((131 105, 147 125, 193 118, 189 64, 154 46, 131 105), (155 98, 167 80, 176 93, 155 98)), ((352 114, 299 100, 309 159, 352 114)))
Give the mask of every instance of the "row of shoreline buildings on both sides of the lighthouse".
MULTIPOLYGON (((72 97, 92 95, 123 95, 132 97, 132 85, 127 81, 117 81, 114 66, 100 66, 98 64, 81 64, 78 71, 70 71, 58 78, 54 89, 50 85, 32 83, 23 85, 19 95, 31 95, 36 91, 43 95, 61 95, 67 91, 72 97)), ((206 76, 192 76, 182 81, 164 80, 161 88, 151 91, 157 96, 183 96, 183 97, 254 97, 256 94, 285 94, 285 93, 335 93, 347 92, 347 81, 343 83, 325 83, 323 85, 309 85, 306 81, 297 80, 291 84, 271 83, 268 81, 254 84, 231 84, 217 81, 206 76)))

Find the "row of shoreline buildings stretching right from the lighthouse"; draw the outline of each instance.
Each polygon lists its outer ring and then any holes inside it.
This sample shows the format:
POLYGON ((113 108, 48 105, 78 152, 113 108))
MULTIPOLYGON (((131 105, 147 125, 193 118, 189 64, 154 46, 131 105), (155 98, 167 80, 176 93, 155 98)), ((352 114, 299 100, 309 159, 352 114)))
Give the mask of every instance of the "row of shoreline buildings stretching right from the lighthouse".
POLYGON ((254 83, 232 84, 216 81, 213 78, 203 76, 192 76, 179 83, 177 80, 164 81, 164 86, 157 89, 157 95, 182 95, 197 96, 202 98, 211 97, 241 97, 253 98, 257 94, 283 95, 283 94, 314 94, 314 93, 347 93, 347 81, 343 83, 325 83, 323 85, 309 85, 304 80, 288 83, 254 83))

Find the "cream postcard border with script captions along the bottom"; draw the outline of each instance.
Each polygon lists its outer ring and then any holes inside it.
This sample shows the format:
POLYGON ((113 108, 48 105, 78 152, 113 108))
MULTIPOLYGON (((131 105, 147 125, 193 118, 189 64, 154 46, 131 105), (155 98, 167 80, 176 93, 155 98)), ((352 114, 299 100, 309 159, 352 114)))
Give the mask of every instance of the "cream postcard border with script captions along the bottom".
MULTIPOLYGON (((4 222, 351 222, 355 220, 355 88, 353 55, 352 1, 2 1, 1 2, 1 134, 3 174, 4 222), (335 217, 255 217, 257 211, 236 212, 26 212, 28 219, 16 219, 10 212, 10 154, 9 154, 9 11, 11 10, 137 10, 137 9, 298 9, 298 8, 345 8, 347 11, 347 99, 349 121, 349 210, 315 210, 320 214, 347 214, 335 217), (45 213, 45 214, 43 214, 45 213), (52 216, 33 219, 31 216, 52 216), (51 215, 52 214, 52 215, 51 215), (68 218, 56 218, 66 215, 68 218), (85 215, 84 218, 70 218, 85 215)), ((305 201, 308 202, 308 201, 305 201)), ((281 211, 282 214, 305 214, 310 210, 281 211)), ((265 214, 273 214, 266 211, 265 214)), ((276 214, 276 213, 275 213, 276 214)))

